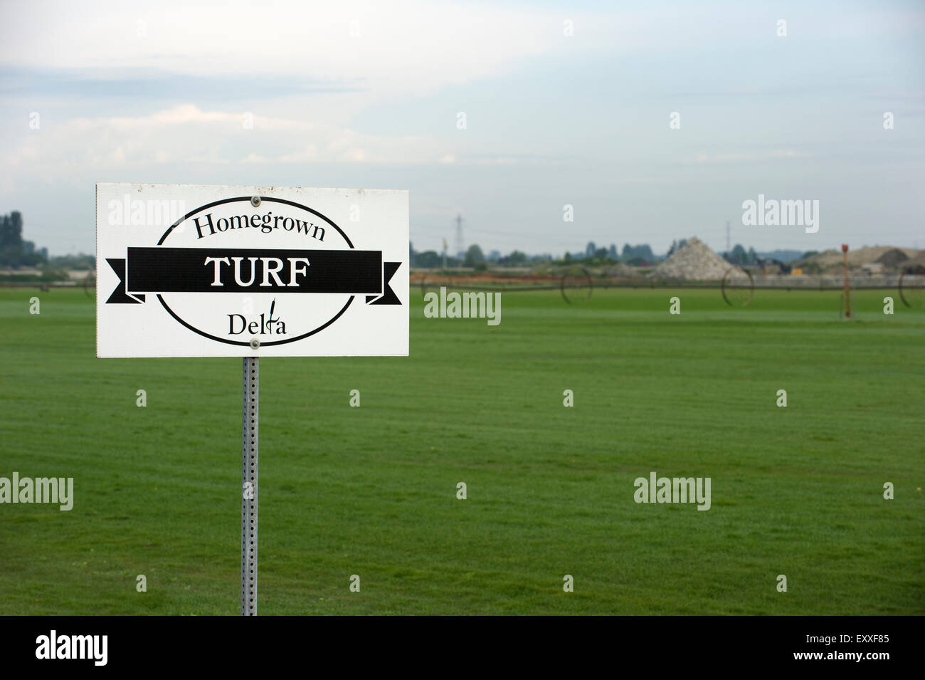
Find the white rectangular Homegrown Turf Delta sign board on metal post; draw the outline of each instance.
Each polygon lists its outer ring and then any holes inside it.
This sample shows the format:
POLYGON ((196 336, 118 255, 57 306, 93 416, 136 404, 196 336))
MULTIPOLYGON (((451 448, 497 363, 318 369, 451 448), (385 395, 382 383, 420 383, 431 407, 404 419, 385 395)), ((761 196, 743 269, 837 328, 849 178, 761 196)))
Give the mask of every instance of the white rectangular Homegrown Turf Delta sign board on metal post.
POLYGON ((96 355, 407 356, 408 192, 96 185, 96 355))

